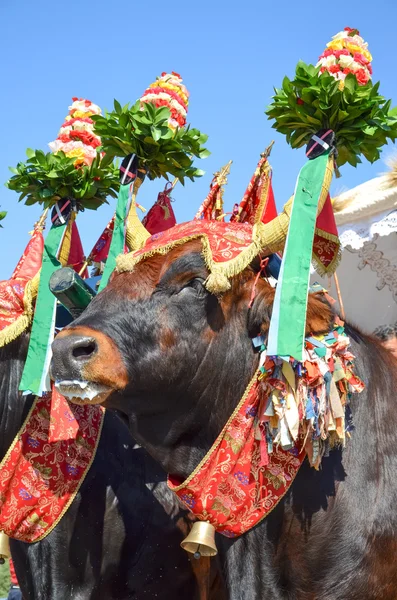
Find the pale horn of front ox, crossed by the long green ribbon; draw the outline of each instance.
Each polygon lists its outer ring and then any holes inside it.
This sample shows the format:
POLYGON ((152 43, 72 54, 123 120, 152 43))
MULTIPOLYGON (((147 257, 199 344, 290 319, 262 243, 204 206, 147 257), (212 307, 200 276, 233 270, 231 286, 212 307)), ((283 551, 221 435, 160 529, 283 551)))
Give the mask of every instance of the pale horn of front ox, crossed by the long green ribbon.
MULTIPOLYGON (((317 216, 323 210, 325 201, 328 196, 329 188, 331 185, 334 165, 333 157, 330 156, 328 165, 325 171, 322 190, 320 199, 318 202, 317 216)), ((274 254, 284 249, 285 241, 287 239, 287 233, 289 223, 291 220, 292 204, 294 197, 292 196, 288 202, 284 205, 283 211, 270 223, 259 222, 255 225, 256 237, 261 246, 262 252, 266 254, 274 254)))

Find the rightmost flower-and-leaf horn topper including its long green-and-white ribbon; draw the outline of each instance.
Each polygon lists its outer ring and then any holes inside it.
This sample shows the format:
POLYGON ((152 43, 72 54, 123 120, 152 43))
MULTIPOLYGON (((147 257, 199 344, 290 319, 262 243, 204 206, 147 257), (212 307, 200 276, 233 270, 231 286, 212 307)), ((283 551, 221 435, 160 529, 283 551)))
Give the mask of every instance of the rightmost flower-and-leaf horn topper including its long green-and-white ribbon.
POLYGON ((334 272, 338 264, 339 240, 328 193, 334 167, 347 161, 356 165, 360 154, 373 162, 387 139, 397 137, 390 102, 370 80, 371 59, 359 32, 346 28, 328 44, 317 67, 298 63, 295 79, 284 78, 266 111, 293 148, 306 144, 309 159, 295 188, 270 325, 271 354, 302 360, 313 242, 314 257, 316 246, 321 257, 315 260, 320 274, 334 272), (325 244, 319 247, 316 218, 324 206, 319 228, 325 244))

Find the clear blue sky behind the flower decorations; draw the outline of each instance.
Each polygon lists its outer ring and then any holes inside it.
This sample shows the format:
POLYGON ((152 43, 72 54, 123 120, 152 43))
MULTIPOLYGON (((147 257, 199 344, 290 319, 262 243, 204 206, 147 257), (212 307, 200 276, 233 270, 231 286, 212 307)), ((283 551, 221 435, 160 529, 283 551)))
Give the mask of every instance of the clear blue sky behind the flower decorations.
MULTIPOLYGON (((315 63, 332 35, 357 27, 374 57, 374 80, 397 104, 395 0, 316 3, 129 2, 2 0, 0 5, 0 182, 27 147, 47 151, 72 96, 102 109, 113 98, 134 102, 162 71, 177 71, 190 91, 189 122, 209 135, 206 175, 174 191, 179 222, 191 219, 212 173, 233 160, 226 208, 241 199, 260 152, 274 139, 274 190, 281 207, 293 192, 303 150, 292 150, 264 115, 273 86, 293 75, 296 62, 315 63)), ((384 156, 394 148, 387 147, 384 156)), ((379 161, 343 167, 333 191, 353 187, 386 169, 379 161)), ((145 182, 139 202, 150 208, 164 182, 145 182)), ((7 278, 28 241, 40 207, 25 207, 0 186, 8 210, 0 230, 0 278, 7 278)), ((88 253, 114 211, 114 200, 79 215, 88 253)))

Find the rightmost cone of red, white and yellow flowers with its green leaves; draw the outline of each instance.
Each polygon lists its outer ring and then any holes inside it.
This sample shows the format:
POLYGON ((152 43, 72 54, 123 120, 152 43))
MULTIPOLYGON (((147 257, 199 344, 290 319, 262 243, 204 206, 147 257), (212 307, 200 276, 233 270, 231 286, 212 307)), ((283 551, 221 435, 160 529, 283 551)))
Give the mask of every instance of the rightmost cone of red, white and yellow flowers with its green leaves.
POLYGON ((322 129, 335 133, 338 166, 375 162, 382 146, 397 137, 397 109, 371 81, 372 57, 356 29, 338 33, 317 66, 299 61, 295 78, 284 77, 266 114, 292 148, 322 129))

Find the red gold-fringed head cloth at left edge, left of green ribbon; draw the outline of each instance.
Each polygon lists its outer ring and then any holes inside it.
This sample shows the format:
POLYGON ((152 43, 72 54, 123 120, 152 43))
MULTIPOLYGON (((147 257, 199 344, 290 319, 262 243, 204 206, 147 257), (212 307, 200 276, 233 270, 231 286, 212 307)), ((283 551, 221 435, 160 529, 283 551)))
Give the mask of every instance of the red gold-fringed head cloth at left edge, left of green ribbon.
MULTIPOLYGON (((34 231, 10 279, 0 281, 0 332, 30 313, 26 285, 41 268, 44 238, 41 230, 34 231)), ((16 337, 16 336, 14 336, 16 337)), ((3 345, 3 344, 0 344, 3 345)))

